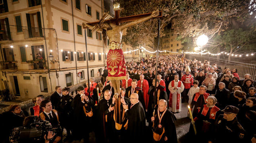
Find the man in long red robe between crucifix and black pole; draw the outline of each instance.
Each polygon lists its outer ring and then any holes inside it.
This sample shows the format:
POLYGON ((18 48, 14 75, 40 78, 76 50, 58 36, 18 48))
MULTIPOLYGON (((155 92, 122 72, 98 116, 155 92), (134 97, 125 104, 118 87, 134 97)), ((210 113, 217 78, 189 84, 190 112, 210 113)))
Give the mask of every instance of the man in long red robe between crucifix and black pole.
POLYGON ((149 83, 147 82, 147 80, 144 80, 144 75, 141 74, 139 75, 139 81, 138 81, 138 84, 137 84, 137 87, 140 87, 141 90, 143 91, 143 98, 144 98, 144 101, 145 101, 145 107, 147 109, 147 106, 148 106, 148 103, 149 103, 149 95, 148 95, 148 92, 149 92, 149 83))

